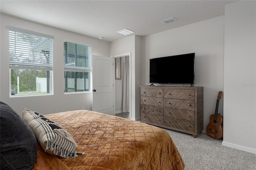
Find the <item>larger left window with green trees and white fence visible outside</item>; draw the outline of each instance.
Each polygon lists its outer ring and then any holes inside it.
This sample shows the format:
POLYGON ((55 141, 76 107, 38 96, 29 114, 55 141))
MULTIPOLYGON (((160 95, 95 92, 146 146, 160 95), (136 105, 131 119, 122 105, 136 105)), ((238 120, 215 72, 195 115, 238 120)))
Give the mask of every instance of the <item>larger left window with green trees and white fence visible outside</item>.
POLYGON ((53 36, 9 29, 11 95, 52 94, 53 36))

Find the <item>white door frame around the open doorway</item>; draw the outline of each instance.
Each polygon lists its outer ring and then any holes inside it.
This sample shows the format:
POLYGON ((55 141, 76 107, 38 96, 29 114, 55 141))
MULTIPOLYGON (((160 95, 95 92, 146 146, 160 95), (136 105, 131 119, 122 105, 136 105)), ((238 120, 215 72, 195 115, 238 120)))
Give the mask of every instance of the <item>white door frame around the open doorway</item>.
MULTIPOLYGON (((131 114, 131 111, 132 111, 132 100, 131 100, 131 96, 132 96, 132 83, 131 83, 131 75, 132 75, 132 67, 131 67, 131 52, 130 53, 123 53, 123 54, 119 54, 119 55, 113 55, 113 56, 110 56, 112 58, 118 58, 118 57, 125 57, 125 56, 129 56, 129 111, 130 111, 130 119, 132 119, 132 114, 131 114)), ((113 82, 115 82, 115 67, 113 67, 113 82)), ((113 94, 113 97, 114 97, 114 113, 116 113, 116 85, 115 83, 114 84, 114 94, 113 94)))

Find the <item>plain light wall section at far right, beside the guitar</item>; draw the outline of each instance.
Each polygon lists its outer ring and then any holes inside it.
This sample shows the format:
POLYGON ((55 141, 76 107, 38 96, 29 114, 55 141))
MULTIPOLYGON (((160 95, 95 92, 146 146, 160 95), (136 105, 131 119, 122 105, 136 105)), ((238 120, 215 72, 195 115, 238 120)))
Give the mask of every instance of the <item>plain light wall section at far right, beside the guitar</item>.
POLYGON ((222 144, 256 154, 256 1, 226 6, 224 40, 222 144))

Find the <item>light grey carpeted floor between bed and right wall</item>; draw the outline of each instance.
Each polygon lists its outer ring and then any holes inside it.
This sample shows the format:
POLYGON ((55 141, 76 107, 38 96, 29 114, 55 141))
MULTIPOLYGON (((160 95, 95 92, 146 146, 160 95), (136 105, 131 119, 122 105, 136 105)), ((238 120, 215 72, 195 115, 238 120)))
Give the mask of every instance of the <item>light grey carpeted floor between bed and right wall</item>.
POLYGON ((206 133, 192 134, 166 130, 185 163, 185 170, 256 170, 256 154, 222 146, 222 140, 206 133))

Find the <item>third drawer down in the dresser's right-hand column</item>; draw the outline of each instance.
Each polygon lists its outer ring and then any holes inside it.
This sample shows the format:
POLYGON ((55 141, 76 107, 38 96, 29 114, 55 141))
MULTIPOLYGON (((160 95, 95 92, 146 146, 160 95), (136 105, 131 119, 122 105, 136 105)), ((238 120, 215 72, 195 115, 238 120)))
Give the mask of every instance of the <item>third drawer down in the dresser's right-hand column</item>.
POLYGON ((166 107, 164 109, 164 117, 195 121, 195 111, 172 109, 166 107))

